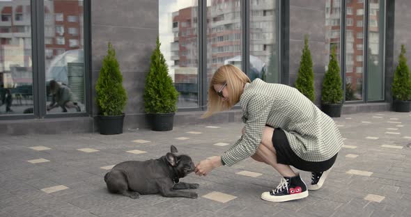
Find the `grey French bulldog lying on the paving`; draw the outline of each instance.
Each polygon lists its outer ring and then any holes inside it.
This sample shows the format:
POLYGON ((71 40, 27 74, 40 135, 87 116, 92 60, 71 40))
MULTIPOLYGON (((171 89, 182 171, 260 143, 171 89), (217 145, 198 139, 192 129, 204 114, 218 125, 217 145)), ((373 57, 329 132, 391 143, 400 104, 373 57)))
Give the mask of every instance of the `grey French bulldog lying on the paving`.
POLYGON ((188 155, 177 155, 177 152, 177 148, 171 145, 171 152, 160 159, 118 163, 104 175, 104 182, 109 192, 133 199, 139 198, 139 195, 157 193, 168 198, 197 198, 195 192, 176 191, 199 188, 199 184, 179 182, 180 178, 193 172, 195 166, 188 155))

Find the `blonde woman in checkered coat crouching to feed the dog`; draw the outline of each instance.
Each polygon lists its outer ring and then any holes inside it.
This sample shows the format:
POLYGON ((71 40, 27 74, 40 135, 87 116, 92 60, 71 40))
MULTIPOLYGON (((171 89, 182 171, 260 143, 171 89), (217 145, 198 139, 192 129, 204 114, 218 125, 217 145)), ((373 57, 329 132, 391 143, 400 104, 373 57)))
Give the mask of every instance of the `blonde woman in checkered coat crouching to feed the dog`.
POLYGON ((222 156, 205 159, 196 175, 207 175, 219 166, 252 159, 267 163, 283 176, 277 188, 261 195, 263 200, 284 202, 308 196, 307 185, 290 166, 309 171, 308 190, 325 181, 343 145, 336 124, 297 89, 261 79, 250 82, 233 65, 224 65, 213 75, 208 90, 207 118, 240 102, 245 122, 242 137, 222 156))

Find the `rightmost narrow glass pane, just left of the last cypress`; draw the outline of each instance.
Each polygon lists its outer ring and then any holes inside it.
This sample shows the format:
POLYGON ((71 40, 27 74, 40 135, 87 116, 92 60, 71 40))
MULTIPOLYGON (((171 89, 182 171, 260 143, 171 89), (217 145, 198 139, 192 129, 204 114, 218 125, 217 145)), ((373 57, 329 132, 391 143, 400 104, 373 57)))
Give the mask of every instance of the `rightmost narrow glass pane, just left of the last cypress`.
POLYGON ((369 1, 369 47, 367 49, 367 82, 368 99, 384 99, 383 35, 384 35, 384 1, 369 1))

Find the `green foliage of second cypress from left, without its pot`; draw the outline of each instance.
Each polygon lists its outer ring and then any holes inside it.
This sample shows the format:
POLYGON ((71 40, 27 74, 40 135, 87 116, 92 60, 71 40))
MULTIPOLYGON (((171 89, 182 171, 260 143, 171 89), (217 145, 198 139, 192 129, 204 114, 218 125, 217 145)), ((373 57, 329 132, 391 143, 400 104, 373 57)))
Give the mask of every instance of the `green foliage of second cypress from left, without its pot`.
POLYGON ((146 77, 144 104, 146 113, 173 113, 177 110, 178 92, 169 76, 169 67, 160 51, 160 40, 151 56, 150 72, 146 77))

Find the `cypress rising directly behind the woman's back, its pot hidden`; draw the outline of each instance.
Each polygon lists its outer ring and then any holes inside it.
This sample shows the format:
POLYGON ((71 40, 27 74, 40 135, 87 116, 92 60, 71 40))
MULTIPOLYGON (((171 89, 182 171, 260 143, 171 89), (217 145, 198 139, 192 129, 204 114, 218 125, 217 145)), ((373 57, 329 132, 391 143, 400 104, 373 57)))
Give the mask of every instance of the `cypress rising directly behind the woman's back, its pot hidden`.
POLYGON ((313 61, 311 60, 311 51, 308 46, 308 35, 304 36, 304 49, 300 61, 295 88, 309 98, 312 102, 316 100, 314 93, 314 72, 313 61))

